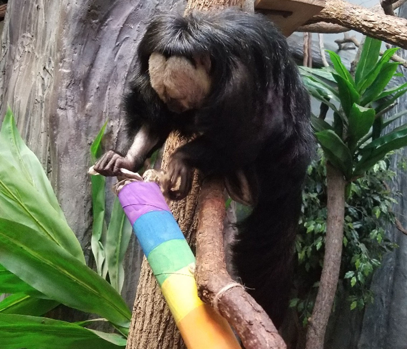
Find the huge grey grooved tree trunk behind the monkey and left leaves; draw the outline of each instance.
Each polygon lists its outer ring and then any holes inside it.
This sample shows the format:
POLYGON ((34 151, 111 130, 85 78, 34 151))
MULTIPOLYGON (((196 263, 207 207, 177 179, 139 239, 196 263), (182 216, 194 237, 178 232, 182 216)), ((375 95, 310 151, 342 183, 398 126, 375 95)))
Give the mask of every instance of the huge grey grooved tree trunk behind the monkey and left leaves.
MULTIPOLYGON (((146 19, 184 6, 182 0, 13 0, 7 5, 0 119, 9 103, 91 266, 90 143, 106 119, 107 147, 123 143, 121 96, 146 19)), ((112 201, 109 188, 107 195, 112 201)), ((126 279, 131 282, 122 294, 131 306, 142 256, 134 238, 127 256, 126 279)), ((65 307, 59 312, 68 320, 85 317, 65 307)))

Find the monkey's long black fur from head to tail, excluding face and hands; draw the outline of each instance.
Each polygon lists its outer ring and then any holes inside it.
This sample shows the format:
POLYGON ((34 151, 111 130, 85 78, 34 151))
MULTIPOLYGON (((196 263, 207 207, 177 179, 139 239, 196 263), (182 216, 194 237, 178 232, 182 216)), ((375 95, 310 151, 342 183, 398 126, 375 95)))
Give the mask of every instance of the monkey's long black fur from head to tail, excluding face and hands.
POLYGON ((302 183, 313 148, 309 96, 285 38, 263 16, 236 9, 168 14, 152 20, 138 54, 140 70, 125 99, 130 128, 147 123, 162 142, 171 130, 199 134, 177 151, 188 166, 231 183, 243 170, 255 203, 239 224, 234 265, 278 327, 287 308, 302 183), (168 111, 149 83, 153 52, 188 59, 210 54, 212 90, 201 108, 168 111))

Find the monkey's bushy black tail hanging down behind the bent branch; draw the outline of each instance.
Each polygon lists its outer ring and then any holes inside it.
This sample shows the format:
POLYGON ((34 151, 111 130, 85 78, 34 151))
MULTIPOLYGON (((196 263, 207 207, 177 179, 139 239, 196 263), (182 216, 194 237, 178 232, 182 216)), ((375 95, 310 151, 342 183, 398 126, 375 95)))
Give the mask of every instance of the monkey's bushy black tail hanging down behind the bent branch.
POLYGON ((238 223, 233 265, 240 281, 280 327, 288 308, 301 188, 263 184, 252 213, 238 223), (277 194, 277 195, 276 195, 277 194))

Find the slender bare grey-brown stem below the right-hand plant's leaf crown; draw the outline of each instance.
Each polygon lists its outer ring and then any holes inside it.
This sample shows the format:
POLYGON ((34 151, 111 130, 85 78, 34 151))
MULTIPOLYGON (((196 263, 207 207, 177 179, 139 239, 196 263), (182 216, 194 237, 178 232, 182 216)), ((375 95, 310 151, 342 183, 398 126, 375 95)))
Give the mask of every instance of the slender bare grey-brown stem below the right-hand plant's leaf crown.
POLYGON ((326 325, 332 309, 341 268, 344 237, 345 179, 332 165, 326 165, 327 208, 324 266, 307 330, 306 349, 323 349, 326 325))

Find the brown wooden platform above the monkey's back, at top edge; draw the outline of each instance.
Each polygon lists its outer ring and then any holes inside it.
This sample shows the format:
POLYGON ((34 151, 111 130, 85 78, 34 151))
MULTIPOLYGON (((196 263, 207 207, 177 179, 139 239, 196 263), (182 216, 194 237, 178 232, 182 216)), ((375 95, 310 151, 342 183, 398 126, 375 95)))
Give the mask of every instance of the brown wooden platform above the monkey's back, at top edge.
POLYGON ((254 9, 267 15, 284 35, 291 35, 325 7, 325 0, 255 0, 254 9))

